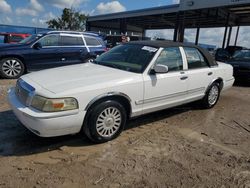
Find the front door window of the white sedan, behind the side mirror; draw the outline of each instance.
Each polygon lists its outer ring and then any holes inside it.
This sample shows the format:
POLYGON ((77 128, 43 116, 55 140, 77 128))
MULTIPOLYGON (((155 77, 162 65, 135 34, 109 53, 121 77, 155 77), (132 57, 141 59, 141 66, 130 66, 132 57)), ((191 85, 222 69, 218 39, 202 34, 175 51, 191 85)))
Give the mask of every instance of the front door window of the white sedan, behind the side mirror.
POLYGON ((183 70, 183 61, 180 49, 178 47, 165 48, 156 60, 156 64, 168 66, 169 72, 183 70))

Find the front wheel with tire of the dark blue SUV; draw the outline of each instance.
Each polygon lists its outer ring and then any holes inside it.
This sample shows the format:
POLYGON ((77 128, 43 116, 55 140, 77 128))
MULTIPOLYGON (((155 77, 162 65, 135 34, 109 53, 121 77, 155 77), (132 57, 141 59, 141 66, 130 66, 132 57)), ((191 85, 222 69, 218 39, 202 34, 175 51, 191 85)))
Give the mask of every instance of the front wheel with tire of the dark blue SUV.
POLYGON ((4 58, 0 61, 0 76, 7 79, 16 79, 23 75, 23 62, 15 57, 4 58))

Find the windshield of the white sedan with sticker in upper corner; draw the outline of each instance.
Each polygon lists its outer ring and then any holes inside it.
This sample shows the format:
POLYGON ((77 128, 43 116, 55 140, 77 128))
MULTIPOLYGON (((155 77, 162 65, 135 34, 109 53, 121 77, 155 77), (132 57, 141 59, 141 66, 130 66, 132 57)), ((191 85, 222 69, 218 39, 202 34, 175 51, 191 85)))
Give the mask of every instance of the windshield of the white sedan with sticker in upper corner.
POLYGON ((122 44, 99 56, 94 63, 124 71, 142 73, 158 48, 140 44, 122 44))

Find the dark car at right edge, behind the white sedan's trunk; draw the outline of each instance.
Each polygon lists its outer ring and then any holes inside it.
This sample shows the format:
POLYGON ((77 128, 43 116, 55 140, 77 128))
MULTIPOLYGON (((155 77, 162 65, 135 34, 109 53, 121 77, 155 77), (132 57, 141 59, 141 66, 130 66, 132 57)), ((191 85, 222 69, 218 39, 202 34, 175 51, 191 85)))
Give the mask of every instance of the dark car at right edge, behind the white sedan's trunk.
POLYGON ((234 77, 238 81, 250 81, 250 50, 239 50, 226 63, 234 68, 234 77))

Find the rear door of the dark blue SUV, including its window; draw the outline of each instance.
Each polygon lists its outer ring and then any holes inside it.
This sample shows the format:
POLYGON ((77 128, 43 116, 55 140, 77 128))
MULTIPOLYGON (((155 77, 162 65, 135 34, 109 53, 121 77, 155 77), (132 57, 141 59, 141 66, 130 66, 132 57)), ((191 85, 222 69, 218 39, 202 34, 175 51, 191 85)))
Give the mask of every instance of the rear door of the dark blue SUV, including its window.
POLYGON ((61 34, 61 64, 72 65, 82 63, 88 54, 82 35, 61 34))

